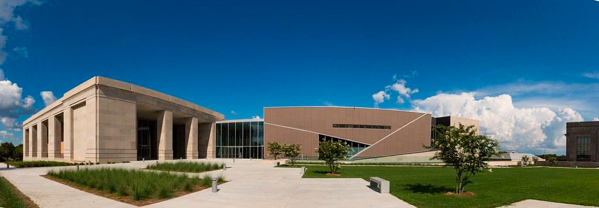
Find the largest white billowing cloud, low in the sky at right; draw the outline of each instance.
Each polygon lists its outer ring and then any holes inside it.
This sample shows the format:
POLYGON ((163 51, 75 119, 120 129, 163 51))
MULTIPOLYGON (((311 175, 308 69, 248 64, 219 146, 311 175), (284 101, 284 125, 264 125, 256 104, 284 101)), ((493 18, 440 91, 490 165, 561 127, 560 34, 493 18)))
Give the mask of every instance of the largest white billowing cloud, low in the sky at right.
POLYGON ((516 108, 512 96, 500 94, 476 99, 476 93, 441 93, 413 100, 415 111, 434 117, 452 115, 480 121, 480 132, 500 140, 503 149, 563 151, 565 123, 582 121, 571 108, 516 108))

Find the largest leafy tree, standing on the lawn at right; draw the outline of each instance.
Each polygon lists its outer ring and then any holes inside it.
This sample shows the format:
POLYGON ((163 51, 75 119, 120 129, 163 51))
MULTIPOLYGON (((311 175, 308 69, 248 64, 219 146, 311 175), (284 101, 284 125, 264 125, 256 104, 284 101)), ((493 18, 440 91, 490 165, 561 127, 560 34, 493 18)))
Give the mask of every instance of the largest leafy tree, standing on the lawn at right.
POLYGON ((492 156, 501 157, 499 142, 476 133, 474 126, 437 126, 437 138, 433 141, 439 151, 431 160, 442 160, 445 166, 455 169, 455 192, 461 194, 470 177, 489 171, 486 163, 492 156))

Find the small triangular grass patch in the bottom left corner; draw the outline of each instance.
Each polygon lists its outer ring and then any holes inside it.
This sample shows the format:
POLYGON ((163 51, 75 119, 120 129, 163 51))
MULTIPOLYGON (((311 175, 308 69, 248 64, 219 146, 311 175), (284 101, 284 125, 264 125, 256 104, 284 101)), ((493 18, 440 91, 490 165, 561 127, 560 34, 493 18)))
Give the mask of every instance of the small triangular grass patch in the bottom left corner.
POLYGON ((4 177, 0 177, 0 207, 21 208, 38 207, 29 197, 24 195, 4 177))

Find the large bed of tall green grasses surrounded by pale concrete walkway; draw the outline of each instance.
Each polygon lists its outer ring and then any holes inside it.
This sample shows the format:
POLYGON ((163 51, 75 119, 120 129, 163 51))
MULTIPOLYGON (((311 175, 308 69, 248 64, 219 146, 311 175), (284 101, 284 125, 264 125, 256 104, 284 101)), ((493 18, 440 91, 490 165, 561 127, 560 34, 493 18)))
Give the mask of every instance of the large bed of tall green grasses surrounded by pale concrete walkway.
MULTIPOLYGON (((108 167, 50 170, 46 177, 92 194, 136 206, 179 197, 212 185, 210 176, 189 178, 167 172, 108 167)), ((218 181, 223 183, 225 179, 219 177, 218 181)))

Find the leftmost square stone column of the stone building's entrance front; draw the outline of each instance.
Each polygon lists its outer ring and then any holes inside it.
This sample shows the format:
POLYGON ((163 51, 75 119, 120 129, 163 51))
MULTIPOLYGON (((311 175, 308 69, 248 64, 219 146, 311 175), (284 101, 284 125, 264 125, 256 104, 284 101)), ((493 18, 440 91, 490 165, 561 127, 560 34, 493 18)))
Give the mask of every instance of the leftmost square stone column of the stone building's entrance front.
POLYGON ((158 115, 158 160, 173 160, 173 112, 158 115))

